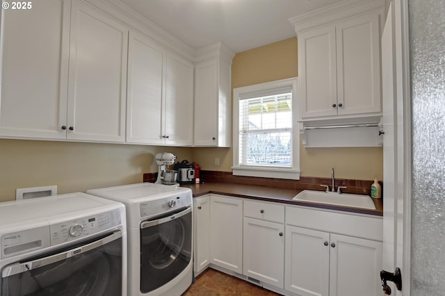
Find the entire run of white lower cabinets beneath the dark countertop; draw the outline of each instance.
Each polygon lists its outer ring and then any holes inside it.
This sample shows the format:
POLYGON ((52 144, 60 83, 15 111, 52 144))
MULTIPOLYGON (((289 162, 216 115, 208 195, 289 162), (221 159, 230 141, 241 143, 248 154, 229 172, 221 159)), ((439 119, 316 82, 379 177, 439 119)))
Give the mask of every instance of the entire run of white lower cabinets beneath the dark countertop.
POLYGON ((382 217, 205 195, 195 274, 208 266, 282 295, 381 295, 382 217))

